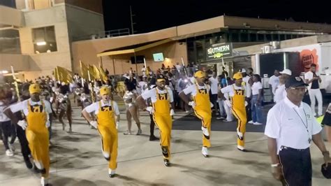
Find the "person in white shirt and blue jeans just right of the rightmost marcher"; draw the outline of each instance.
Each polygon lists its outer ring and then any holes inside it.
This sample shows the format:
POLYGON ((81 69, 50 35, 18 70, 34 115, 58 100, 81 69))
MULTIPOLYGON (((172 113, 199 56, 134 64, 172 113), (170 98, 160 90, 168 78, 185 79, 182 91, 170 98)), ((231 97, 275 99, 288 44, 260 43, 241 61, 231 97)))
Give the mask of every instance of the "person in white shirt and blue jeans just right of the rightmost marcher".
POLYGON ((253 75, 253 85, 251 86, 251 118, 249 121, 251 124, 262 124, 263 111, 262 111, 262 83, 261 78, 258 74, 253 75))

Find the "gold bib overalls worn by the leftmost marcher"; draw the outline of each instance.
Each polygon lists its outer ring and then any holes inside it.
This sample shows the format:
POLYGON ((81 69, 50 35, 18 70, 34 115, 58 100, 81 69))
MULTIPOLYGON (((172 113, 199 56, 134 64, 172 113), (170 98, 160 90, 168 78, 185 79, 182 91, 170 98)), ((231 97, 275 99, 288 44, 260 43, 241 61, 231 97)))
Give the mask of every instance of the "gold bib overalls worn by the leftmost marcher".
POLYGON ((45 170, 42 170, 42 176, 48 178, 50 172, 50 141, 48 139, 49 134, 46 127, 47 112, 45 109, 45 103, 41 101, 42 105, 34 106, 31 106, 30 101, 27 101, 27 103, 29 114, 26 117, 28 125, 25 134, 35 164, 43 165, 43 169, 45 170))

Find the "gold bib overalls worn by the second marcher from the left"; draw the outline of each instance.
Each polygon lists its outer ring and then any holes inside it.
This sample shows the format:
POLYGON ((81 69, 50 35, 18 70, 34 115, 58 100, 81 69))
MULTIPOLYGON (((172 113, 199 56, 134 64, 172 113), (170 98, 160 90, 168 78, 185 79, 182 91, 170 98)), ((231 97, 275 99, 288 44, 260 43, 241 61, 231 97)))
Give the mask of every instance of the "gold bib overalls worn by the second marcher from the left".
POLYGON ((108 168, 117 168, 117 129, 115 123, 115 109, 113 101, 111 106, 102 106, 98 101, 99 109, 96 119, 98 122, 98 132, 101 136, 103 156, 109 161, 108 168))

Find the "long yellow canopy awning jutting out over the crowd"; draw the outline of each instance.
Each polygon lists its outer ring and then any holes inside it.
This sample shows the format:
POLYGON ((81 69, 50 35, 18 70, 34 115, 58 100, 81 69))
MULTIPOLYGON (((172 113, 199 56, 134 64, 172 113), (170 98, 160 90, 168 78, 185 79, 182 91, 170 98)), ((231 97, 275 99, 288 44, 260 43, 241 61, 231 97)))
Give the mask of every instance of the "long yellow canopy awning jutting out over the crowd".
POLYGON ((141 50, 146 50, 148 48, 153 48, 156 47, 157 45, 162 45, 164 43, 168 43, 172 41, 171 39, 167 38, 161 41, 156 41, 156 42, 149 42, 149 43, 142 43, 138 45, 131 45, 127 46, 124 48, 117 48, 113 50, 105 50, 101 53, 98 53, 96 57, 103 57, 103 56, 110 56, 110 55, 124 55, 124 54, 130 54, 130 53, 135 53, 139 52, 141 50))

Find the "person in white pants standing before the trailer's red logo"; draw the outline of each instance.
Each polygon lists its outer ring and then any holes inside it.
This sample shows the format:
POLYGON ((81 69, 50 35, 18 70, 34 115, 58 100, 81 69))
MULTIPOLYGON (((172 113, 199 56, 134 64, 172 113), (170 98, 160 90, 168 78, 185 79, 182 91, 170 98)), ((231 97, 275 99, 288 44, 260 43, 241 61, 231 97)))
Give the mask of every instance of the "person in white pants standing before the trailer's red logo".
POLYGON ((310 71, 307 73, 304 73, 304 81, 309 85, 308 86, 308 93, 310 98, 310 107, 313 111, 314 116, 316 116, 315 113, 315 99, 317 99, 318 102, 318 112, 317 117, 323 115, 323 99, 322 99, 322 93, 320 90, 319 83, 322 82, 321 77, 318 76, 318 73, 316 73, 316 64, 311 64, 310 71))

